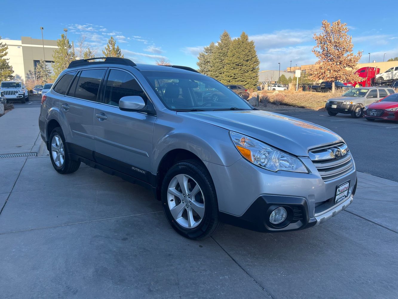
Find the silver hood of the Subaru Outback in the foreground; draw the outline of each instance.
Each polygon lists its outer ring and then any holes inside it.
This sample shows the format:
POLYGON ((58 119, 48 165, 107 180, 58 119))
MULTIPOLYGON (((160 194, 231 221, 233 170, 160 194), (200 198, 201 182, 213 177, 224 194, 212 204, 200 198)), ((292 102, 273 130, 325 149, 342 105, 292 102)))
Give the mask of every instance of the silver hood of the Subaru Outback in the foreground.
POLYGON ((177 113, 226 130, 245 134, 297 156, 308 156, 308 149, 343 141, 336 133, 324 127, 267 111, 177 113))

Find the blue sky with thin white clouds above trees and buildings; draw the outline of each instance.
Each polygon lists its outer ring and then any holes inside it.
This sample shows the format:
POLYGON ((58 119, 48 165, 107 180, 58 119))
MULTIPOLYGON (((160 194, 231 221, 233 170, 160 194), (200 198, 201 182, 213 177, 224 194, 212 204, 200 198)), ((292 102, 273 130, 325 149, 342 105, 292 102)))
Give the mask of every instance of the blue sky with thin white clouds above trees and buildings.
MULTIPOLYGON (((76 40, 81 34, 98 47, 98 56, 107 39, 113 35, 125 57, 137 63, 154 63, 165 57, 172 64, 197 67, 197 54, 211 41, 217 42, 227 30, 232 37, 245 31, 256 44, 260 69, 281 69, 314 63, 311 50, 312 35, 322 20, 341 20, 350 28, 354 50, 362 51, 361 62, 382 61, 398 56, 398 35, 391 30, 396 14, 385 8, 373 14, 374 1, 348 5, 346 1, 285 1, 283 5, 264 1, 46 1, 40 5, 19 1, 24 18, 14 18, 15 1, 2 1, 0 35, 7 39, 21 36, 57 39, 68 28, 68 38, 76 40), (87 4, 86 4, 87 3, 87 4), (111 5, 109 5, 111 3, 111 5), (324 9, 318 9, 318 8, 324 9), (30 12, 33 17, 29 17, 30 12), (317 13, 319 11, 319 13, 317 13), (384 11, 380 13, 380 11, 384 11), (389 24, 391 26, 389 26, 389 24)), ((19 15, 20 16, 20 15, 19 15)))

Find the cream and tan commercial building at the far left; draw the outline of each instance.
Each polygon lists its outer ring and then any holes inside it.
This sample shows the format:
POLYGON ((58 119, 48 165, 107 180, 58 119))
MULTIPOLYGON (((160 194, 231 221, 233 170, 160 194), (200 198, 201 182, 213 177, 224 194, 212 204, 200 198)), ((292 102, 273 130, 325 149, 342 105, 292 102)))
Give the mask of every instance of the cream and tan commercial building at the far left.
POLYGON ((0 42, 8 46, 8 62, 14 70, 14 80, 24 81, 29 78, 29 71, 33 71, 37 63, 43 59, 51 68, 53 53, 58 48, 57 40, 33 39, 21 37, 21 40, 1 39, 0 42))

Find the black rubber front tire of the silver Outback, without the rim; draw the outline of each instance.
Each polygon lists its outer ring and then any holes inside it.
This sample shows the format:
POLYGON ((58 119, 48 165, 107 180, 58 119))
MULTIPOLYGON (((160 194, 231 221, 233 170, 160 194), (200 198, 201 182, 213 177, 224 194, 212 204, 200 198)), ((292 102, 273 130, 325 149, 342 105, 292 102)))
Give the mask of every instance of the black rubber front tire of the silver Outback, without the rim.
MULTIPOLYGON (((213 179, 207 169, 196 160, 180 161, 171 167, 162 182, 161 198, 164 214, 172 228, 181 236, 192 240, 200 240, 211 236, 222 226, 219 221, 219 206, 217 203, 217 194, 213 184, 213 179), (195 228, 184 228, 172 216, 168 204, 168 187, 176 175, 184 174, 194 179, 199 185, 204 198, 205 212, 204 216, 195 228)), ((172 201, 172 200, 170 200, 172 201)))

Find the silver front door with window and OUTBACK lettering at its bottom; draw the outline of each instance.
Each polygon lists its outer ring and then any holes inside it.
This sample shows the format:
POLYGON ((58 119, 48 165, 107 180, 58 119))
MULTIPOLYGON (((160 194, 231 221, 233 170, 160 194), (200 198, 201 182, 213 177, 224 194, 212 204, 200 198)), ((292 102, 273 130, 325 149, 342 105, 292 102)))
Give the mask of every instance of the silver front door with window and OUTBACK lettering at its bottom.
POLYGON ((119 100, 123 96, 141 96, 147 104, 151 103, 130 73, 109 69, 106 77, 103 99, 94 112, 96 161, 150 182, 156 116, 122 111, 119 100))

